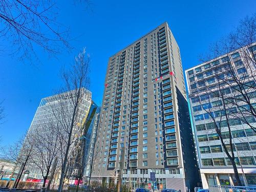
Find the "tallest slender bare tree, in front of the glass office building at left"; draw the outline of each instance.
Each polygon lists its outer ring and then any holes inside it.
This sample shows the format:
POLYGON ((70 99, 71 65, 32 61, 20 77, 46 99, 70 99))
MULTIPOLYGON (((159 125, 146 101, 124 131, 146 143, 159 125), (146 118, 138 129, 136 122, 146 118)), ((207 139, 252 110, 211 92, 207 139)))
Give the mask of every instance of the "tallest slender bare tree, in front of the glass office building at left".
POLYGON ((91 99, 91 93, 86 90, 89 86, 89 63, 90 57, 83 51, 75 58, 74 65, 68 71, 62 72, 65 87, 59 94, 56 101, 58 108, 53 110, 56 118, 56 130, 59 139, 59 151, 61 157, 61 175, 58 191, 62 190, 67 164, 74 159, 74 151, 77 150, 77 143, 83 134, 83 124, 86 122, 87 114, 83 110, 89 111, 86 100, 91 99), (65 100, 65 102, 63 102, 65 100))

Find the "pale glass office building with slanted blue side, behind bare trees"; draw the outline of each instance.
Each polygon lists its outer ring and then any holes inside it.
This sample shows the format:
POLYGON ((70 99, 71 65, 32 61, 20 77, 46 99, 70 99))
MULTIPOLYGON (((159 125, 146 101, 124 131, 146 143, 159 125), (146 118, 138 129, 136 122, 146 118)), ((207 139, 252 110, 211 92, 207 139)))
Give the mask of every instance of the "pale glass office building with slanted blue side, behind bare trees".
MULTIPOLYGON (((73 90, 42 98, 31 122, 26 139, 28 139, 30 134, 33 136, 36 134, 34 132, 38 132, 39 130, 42 132, 49 131, 51 128, 48 127, 51 126, 53 129, 57 129, 55 124, 58 123, 58 127, 61 127, 59 133, 63 131, 63 136, 65 136, 67 132, 65 129, 68 129, 68 127, 61 123, 71 123, 74 111, 72 99, 75 97, 76 91, 73 90)), ((82 88, 81 99, 77 110, 78 113, 75 118, 76 126, 74 126, 74 135, 72 136, 73 142, 70 149, 69 169, 67 172, 67 177, 72 184, 77 180, 78 173, 84 173, 85 170, 88 169, 86 167, 90 166, 89 163, 92 158, 91 145, 93 145, 95 141, 95 139, 92 138, 95 138, 97 131, 99 111, 100 108, 92 100, 92 93, 82 88), (81 166, 81 164, 83 166, 81 166)), ((62 147, 65 146, 63 145, 62 147)), ((60 158, 59 153, 60 151, 56 151, 57 156, 60 158)), ((33 159, 36 158, 33 157, 33 159)), ((38 165, 40 165, 40 162, 38 165)), ((33 162, 30 162, 29 165, 26 166, 26 170, 30 172, 28 179, 36 180, 37 182, 42 179, 41 170, 36 165, 33 165, 33 162)), ((89 170, 87 170, 87 174, 89 174, 89 170)), ((84 178, 85 173, 82 174, 82 176, 84 178)))

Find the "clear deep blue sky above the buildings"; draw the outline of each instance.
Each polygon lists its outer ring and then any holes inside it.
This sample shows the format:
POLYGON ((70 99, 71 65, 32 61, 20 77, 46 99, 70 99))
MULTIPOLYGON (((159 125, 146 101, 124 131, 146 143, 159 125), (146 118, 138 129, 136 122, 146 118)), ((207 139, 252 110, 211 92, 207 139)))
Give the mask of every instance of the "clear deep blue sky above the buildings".
MULTIPOLYGON (((90 9, 72 1, 58 1, 58 21, 70 27, 71 53, 41 63, 21 62, 0 55, 0 100, 5 99, 6 119, 0 124, 0 145, 13 143, 29 128, 40 99, 61 86, 59 70, 72 63, 83 47, 91 55, 93 100, 101 104, 108 58, 167 21, 181 50, 183 69, 199 63, 211 43, 228 34, 246 15, 255 12, 255 0, 226 1, 93 1, 90 9)), ((2 45, 8 41, 0 39, 2 45)))

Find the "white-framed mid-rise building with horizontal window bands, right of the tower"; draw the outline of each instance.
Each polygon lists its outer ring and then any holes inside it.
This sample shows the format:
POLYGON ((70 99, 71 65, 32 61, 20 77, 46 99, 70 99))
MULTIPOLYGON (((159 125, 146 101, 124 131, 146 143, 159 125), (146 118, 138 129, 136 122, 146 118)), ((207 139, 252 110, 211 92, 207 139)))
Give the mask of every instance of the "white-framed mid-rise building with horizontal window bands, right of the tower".
POLYGON ((204 188, 210 185, 237 185, 232 164, 215 125, 219 127, 230 154, 231 138, 242 184, 247 181, 249 185, 255 185, 256 134, 251 127, 256 126, 256 119, 250 114, 248 105, 256 106, 255 58, 254 43, 252 47, 243 47, 185 71, 204 188))

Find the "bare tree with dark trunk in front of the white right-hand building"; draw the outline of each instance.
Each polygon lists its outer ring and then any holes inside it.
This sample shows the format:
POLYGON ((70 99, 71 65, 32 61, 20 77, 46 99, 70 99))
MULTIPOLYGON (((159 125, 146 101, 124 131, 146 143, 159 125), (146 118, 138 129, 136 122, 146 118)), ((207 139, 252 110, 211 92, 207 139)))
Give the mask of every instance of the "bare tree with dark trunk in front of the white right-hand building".
POLYGON ((235 32, 218 41, 210 51, 207 61, 201 59, 205 62, 204 68, 211 70, 207 72, 207 80, 200 81, 201 77, 197 76, 199 92, 194 96, 200 98, 200 106, 196 108, 200 107, 211 119, 206 130, 217 133, 237 183, 242 185, 232 131, 236 125, 244 123, 256 132, 253 124, 256 118, 253 104, 256 95, 256 16, 242 20, 235 32), (210 60, 212 57, 216 59, 210 60))

